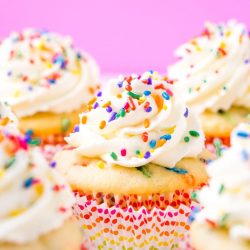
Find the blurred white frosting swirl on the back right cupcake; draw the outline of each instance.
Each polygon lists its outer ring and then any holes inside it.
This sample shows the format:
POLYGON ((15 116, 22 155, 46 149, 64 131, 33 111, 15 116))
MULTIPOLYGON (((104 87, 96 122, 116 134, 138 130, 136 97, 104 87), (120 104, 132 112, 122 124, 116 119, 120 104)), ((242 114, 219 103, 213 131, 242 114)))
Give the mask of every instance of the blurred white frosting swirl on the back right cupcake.
POLYGON ((250 108, 250 39, 244 24, 206 23, 202 35, 180 46, 169 76, 198 112, 250 108))

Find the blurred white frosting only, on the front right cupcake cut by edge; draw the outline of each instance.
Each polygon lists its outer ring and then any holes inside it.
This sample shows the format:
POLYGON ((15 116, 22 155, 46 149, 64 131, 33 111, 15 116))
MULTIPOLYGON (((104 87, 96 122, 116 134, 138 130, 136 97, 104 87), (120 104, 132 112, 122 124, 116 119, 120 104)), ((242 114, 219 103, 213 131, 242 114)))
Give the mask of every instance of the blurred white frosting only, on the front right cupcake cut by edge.
POLYGON ((208 166, 210 186, 199 194, 204 209, 197 220, 226 228, 231 237, 250 240, 250 123, 233 131, 231 143, 208 166))

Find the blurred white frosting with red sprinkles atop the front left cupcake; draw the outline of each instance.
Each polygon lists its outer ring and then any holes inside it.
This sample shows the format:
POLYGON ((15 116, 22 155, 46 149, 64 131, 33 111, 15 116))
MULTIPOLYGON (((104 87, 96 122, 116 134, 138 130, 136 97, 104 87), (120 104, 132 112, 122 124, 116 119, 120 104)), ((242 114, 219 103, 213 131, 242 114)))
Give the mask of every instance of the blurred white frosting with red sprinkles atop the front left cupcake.
POLYGON ((31 242, 71 216, 70 188, 52 167, 25 137, 0 128, 0 242, 31 242))

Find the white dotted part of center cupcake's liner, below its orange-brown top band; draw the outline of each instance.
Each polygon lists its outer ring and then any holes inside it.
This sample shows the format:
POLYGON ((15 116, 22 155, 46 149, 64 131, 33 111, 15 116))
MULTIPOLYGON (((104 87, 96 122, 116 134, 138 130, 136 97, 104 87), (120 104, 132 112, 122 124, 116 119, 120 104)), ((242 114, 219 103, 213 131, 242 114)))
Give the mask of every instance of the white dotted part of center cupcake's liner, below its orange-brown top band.
MULTIPOLYGON (((84 244, 91 249, 183 249, 190 229, 192 208, 181 204, 165 210, 98 204, 87 196, 76 195, 73 212, 84 229, 84 244)), ((183 249, 184 250, 184 249, 183 249)))

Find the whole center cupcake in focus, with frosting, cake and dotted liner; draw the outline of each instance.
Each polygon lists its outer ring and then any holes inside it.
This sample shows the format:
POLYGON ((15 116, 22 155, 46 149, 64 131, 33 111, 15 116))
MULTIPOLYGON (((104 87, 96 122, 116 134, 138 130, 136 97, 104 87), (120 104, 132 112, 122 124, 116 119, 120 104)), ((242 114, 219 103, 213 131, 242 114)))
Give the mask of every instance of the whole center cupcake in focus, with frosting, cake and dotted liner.
POLYGON ((200 124, 167 78, 112 80, 66 141, 55 162, 90 249, 178 249, 207 175, 200 124))

